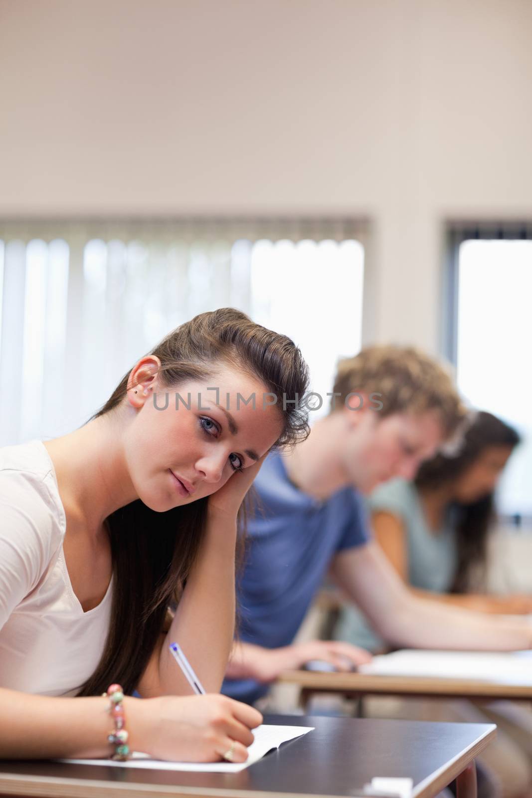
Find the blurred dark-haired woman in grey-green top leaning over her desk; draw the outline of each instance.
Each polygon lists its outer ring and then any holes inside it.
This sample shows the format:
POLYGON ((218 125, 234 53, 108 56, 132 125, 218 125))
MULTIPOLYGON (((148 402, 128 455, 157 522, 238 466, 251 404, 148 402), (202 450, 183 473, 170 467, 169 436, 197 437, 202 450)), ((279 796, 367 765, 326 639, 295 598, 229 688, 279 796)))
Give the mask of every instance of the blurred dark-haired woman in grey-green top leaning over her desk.
MULTIPOLYGON (((518 443, 518 433, 499 418, 475 413, 455 453, 439 452, 414 480, 391 480, 369 496, 376 542, 412 595, 482 612, 532 613, 532 595, 479 592, 495 486, 518 443)), ((386 648, 351 606, 334 637, 373 652, 386 648)))

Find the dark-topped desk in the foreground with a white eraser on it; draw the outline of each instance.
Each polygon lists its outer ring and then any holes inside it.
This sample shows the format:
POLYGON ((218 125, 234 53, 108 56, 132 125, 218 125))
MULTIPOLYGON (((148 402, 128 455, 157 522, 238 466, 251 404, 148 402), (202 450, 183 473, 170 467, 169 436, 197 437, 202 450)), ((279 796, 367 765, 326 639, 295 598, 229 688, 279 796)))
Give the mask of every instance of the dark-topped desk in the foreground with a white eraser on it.
POLYGON ((270 715, 268 723, 315 726, 239 773, 191 773, 49 761, 0 762, 0 794, 69 798, 296 798, 356 796, 373 776, 410 776, 412 798, 433 798, 457 779, 475 798, 475 757, 495 726, 270 715))

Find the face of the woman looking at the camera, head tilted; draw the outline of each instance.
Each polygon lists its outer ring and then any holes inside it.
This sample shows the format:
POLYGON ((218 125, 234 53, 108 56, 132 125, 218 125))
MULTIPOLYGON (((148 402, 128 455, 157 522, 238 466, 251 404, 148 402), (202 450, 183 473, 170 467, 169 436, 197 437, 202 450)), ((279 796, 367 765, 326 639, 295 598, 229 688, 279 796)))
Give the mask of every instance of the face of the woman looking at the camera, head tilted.
POLYGON ((136 390, 128 390, 124 452, 136 495, 156 512, 210 496, 282 433, 282 413, 265 386, 236 369, 220 366, 207 381, 168 388, 148 381, 136 390), (253 394, 254 406, 246 405, 253 394))

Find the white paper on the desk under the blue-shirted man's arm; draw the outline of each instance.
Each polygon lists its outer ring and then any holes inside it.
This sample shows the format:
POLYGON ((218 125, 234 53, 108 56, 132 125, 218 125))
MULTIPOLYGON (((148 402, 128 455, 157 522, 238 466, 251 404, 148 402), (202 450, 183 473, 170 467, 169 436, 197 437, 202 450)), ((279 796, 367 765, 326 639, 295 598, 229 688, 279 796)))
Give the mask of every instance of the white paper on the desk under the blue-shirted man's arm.
POLYGON ((532 685, 532 651, 492 654, 485 651, 424 651, 404 649, 374 657, 358 668, 361 674, 473 679, 512 685, 532 685))

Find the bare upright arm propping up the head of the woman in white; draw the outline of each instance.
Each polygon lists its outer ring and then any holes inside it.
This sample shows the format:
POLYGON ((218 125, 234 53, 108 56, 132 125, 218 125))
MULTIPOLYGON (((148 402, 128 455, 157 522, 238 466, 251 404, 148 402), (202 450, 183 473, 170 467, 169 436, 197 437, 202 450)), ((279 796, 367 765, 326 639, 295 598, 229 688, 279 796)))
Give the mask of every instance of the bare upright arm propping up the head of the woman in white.
POLYGON ((203 542, 170 630, 161 635, 140 680, 143 697, 192 692, 171 655, 171 642, 179 643, 207 693, 219 692, 233 645, 238 509, 261 464, 234 474, 209 497, 203 542))

